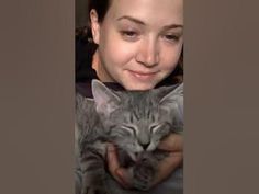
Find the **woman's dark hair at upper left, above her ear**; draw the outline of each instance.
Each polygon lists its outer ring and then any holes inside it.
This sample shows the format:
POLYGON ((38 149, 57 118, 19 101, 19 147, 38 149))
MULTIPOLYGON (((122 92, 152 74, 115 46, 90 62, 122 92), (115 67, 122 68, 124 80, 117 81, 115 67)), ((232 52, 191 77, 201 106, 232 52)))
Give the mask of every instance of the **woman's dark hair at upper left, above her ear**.
MULTIPOLYGON (((88 0, 88 18, 90 11, 94 9, 98 13, 98 22, 102 23, 112 0, 88 0)), ((89 20, 90 22, 90 20, 89 20)))

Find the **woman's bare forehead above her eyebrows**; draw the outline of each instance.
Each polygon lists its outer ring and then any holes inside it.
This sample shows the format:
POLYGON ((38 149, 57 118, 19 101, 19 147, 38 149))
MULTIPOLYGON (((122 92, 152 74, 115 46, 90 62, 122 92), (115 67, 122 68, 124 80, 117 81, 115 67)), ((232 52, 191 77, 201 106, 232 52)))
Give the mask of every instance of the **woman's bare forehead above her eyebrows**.
POLYGON ((167 25, 183 24, 183 0, 112 0, 106 14, 112 20, 131 16, 167 25))

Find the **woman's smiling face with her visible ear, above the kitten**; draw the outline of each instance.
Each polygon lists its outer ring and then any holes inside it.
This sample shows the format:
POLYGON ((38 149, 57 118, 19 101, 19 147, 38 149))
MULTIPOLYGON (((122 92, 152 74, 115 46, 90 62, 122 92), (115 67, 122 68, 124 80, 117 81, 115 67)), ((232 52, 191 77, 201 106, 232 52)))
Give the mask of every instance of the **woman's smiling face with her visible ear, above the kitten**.
POLYGON ((147 90, 169 76, 183 43, 183 0, 112 0, 102 23, 91 12, 99 44, 98 75, 127 90, 147 90), (100 72, 99 72, 100 71, 100 72))

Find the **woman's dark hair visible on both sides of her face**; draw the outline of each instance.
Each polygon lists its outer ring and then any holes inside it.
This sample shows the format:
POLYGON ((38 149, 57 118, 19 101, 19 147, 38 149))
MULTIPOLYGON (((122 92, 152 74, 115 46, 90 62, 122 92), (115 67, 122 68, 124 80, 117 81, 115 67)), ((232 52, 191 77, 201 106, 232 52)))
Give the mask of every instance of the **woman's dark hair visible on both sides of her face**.
MULTIPOLYGON (((90 24, 90 11, 93 9, 97 11, 98 14, 98 22, 102 23, 106 12, 112 3, 112 0, 88 0, 88 20, 90 24)), ((89 36, 91 36, 91 30, 90 26, 87 27, 89 32, 89 36)), ((172 82, 182 82, 183 81, 183 48, 181 52, 181 56, 179 58, 178 65, 173 72, 165 80, 170 80, 172 82)))

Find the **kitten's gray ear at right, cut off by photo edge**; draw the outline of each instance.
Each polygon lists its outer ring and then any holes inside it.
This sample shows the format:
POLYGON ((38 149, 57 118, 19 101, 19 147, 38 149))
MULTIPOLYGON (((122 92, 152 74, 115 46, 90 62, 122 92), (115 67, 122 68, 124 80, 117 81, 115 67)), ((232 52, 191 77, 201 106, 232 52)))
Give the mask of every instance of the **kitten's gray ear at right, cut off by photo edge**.
POLYGON ((183 83, 166 94, 159 104, 164 109, 176 107, 179 119, 183 119, 183 83))

